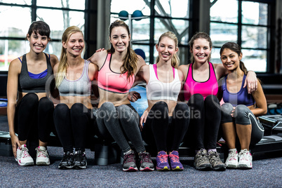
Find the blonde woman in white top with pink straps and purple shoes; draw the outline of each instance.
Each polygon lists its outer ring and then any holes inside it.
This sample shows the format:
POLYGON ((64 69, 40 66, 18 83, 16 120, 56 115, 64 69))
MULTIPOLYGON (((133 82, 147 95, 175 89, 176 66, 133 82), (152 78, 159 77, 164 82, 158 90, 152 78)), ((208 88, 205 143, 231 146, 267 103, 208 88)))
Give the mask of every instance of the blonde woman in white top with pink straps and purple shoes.
POLYGON ((163 33, 156 44, 156 64, 142 66, 138 72, 147 83, 148 100, 140 129, 145 142, 157 149, 156 170, 183 170, 178 149, 189 125, 189 107, 177 102, 184 81, 183 73, 177 70, 177 44, 173 32, 163 33))

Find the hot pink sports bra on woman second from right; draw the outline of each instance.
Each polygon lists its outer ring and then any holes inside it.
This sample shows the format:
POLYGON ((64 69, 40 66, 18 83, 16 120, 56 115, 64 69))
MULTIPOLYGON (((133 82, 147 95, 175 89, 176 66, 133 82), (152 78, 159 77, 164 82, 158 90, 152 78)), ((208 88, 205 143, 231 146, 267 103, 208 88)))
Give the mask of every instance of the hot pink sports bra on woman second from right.
POLYGON ((193 79, 193 64, 189 65, 187 79, 183 86, 184 100, 188 101, 189 98, 196 93, 203 95, 203 98, 206 98, 208 95, 217 95, 218 84, 215 69, 211 62, 208 62, 208 65, 210 65, 210 75, 208 76, 208 80, 203 82, 198 82, 193 79))

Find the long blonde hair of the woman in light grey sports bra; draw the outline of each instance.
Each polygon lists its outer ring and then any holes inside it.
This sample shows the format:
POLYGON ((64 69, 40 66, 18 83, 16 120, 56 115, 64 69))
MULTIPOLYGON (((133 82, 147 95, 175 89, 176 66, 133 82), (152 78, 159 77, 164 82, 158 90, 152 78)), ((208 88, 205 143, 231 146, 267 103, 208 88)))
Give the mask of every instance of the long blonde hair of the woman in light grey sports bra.
MULTIPOLYGON (((76 26, 67 27, 67 29, 65 29, 65 32, 62 34, 62 42, 67 43, 69 41, 69 37, 77 32, 81 32, 81 29, 79 29, 79 27, 76 26)), ((81 34, 83 36, 82 32, 81 34)), ((59 67, 58 67, 58 74, 55 75, 56 88, 60 86, 66 74, 67 74, 67 49, 65 49, 64 46, 62 46, 59 67)))

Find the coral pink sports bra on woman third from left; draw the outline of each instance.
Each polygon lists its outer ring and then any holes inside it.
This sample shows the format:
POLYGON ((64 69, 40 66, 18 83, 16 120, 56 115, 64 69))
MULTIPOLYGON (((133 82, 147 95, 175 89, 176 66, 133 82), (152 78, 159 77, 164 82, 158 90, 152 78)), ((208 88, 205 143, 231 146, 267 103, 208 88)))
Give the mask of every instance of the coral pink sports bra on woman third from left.
POLYGON ((128 93, 135 81, 135 76, 131 75, 128 79, 128 72, 124 74, 113 72, 110 68, 111 60, 112 54, 108 53, 98 73, 98 87, 113 93, 128 93))

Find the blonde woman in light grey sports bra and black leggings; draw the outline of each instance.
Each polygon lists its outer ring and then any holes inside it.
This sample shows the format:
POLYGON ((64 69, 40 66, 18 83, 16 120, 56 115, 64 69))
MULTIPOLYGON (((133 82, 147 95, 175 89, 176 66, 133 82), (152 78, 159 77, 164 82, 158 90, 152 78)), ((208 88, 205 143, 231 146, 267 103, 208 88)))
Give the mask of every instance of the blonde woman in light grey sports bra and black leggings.
POLYGON ((54 123, 64 150, 60 169, 86 168, 86 133, 94 133, 90 130, 95 120, 90 95, 91 81, 98 74, 98 67, 81 58, 84 46, 79 27, 68 27, 62 34, 60 62, 54 67, 55 84, 60 93, 54 123))

